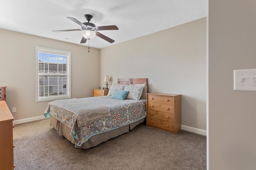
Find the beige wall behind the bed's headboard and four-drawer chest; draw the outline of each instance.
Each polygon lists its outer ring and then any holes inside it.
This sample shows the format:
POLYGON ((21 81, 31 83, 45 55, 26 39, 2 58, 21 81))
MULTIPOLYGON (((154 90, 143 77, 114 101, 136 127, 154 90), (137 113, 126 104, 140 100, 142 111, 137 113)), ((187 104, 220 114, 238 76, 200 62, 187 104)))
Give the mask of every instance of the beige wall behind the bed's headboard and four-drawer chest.
POLYGON ((182 94, 182 125, 206 130, 206 18, 100 49, 104 76, 148 78, 148 92, 182 94))

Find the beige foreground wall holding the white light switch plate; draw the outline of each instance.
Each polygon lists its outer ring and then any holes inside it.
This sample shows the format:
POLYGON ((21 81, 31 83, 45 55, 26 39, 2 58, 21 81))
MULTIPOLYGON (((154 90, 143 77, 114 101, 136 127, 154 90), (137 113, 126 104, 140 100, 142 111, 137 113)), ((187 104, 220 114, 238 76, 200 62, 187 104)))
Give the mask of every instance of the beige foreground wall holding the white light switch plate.
POLYGON ((233 70, 256 68, 255 9, 253 0, 209 0, 210 170, 256 167, 256 92, 233 90, 233 70))

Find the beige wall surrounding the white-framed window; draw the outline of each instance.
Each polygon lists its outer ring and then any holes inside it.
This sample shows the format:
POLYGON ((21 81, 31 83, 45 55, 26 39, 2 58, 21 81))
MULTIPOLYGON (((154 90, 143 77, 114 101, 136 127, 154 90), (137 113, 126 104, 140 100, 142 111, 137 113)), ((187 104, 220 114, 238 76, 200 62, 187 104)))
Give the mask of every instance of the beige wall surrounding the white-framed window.
POLYGON ((100 82, 100 50, 0 29, 0 86, 14 120, 42 116, 48 102, 36 102, 36 46, 71 51, 72 98, 91 97, 100 82))

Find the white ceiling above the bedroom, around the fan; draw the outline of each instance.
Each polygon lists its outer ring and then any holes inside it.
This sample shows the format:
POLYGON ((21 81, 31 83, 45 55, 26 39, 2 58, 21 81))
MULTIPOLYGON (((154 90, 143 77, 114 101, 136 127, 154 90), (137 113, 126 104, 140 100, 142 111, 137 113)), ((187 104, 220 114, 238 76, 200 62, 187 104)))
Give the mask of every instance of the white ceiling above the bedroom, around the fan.
MULTIPOLYGON (((83 23, 87 22, 84 14, 91 14, 90 22, 96 26, 119 28, 98 31, 114 39, 114 43, 97 36, 90 40, 90 47, 101 49, 206 17, 206 3, 206 0, 0 0, 0 28, 80 44, 80 31, 52 30, 80 29, 80 25, 66 17, 83 23)), ((80 45, 88 46, 88 41, 80 45)))

